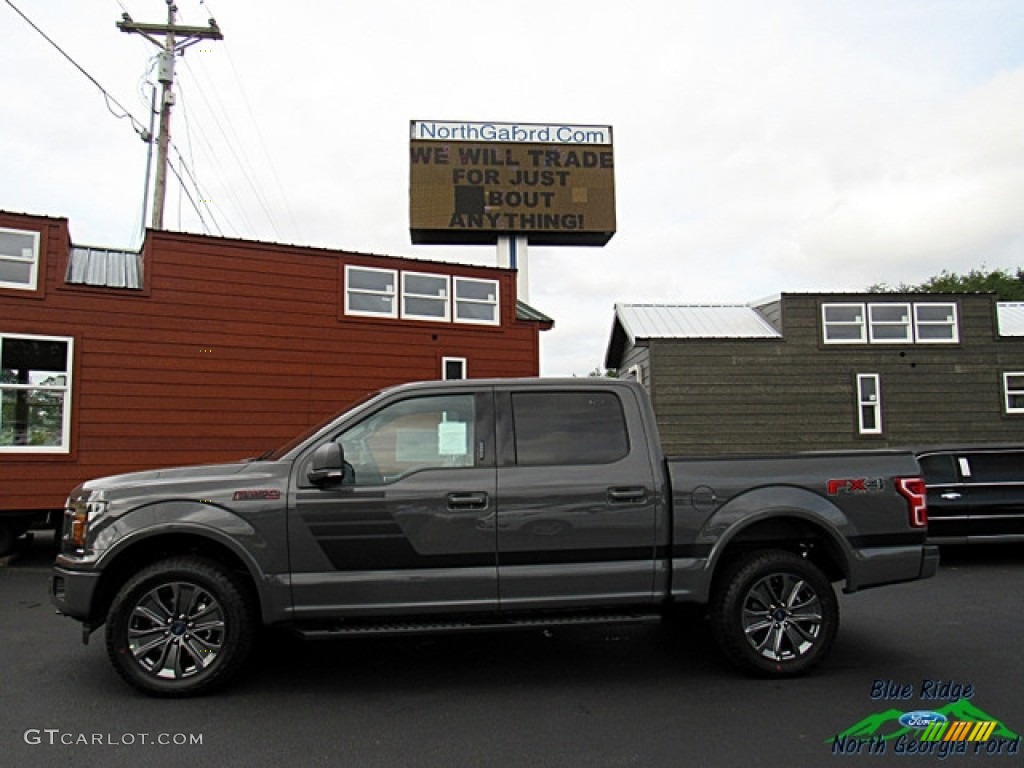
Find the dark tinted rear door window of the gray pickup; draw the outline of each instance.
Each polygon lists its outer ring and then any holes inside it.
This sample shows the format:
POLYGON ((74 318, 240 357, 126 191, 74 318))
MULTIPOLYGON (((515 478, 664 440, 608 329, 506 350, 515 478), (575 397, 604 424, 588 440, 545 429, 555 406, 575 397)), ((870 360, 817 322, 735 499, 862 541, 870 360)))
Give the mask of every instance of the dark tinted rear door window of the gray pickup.
POLYGON ((626 417, 608 392, 513 392, 516 464, 610 464, 630 452, 626 417))

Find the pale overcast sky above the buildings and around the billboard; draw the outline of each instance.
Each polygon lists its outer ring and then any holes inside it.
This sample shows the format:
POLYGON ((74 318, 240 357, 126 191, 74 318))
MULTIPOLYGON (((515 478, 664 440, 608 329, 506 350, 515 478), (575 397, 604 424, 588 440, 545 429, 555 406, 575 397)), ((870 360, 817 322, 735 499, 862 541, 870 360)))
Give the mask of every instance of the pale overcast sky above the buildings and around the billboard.
MULTIPOLYGON (((136 248, 164 0, 0 0, 0 209, 136 248)), ((1021 0, 177 0, 165 226, 494 264, 413 246, 410 120, 610 125, 617 232, 532 247, 542 374, 603 364, 615 302, 749 302, 1024 265, 1021 0), (195 195, 195 193, 194 193, 195 195)), ((147 219, 147 217, 146 217, 147 219)))

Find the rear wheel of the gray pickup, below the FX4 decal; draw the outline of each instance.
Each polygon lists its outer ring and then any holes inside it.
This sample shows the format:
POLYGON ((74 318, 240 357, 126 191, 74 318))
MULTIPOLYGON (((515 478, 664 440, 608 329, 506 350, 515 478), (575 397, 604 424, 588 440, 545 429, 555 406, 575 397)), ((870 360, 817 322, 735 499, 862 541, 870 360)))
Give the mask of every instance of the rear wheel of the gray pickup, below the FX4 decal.
POLYGON ((782 550, 755 552, 734 562, 715 589, 711 626, 739 669, 791 677, 828 653, 839 601, 814 563, 782 550))

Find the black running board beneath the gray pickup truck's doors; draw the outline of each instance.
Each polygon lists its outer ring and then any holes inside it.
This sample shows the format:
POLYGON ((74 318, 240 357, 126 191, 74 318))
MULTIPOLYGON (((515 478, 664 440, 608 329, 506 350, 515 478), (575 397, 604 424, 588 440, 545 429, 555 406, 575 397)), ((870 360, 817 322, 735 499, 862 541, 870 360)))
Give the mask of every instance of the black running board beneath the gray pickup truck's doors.
POLYGON ((390 622, 353 620, 343 624, 299 626, 293 629, 307 640, 318 640, 333 637, 399 637, 402 635, 452 634, 457 632, 504 632, 507 630, 547 630, 558 627, 659 624, 660 622, 660 613, 585 613, 528 617, 486 616, 476 618, 460 616, 449 621, 437 617, 390 622))

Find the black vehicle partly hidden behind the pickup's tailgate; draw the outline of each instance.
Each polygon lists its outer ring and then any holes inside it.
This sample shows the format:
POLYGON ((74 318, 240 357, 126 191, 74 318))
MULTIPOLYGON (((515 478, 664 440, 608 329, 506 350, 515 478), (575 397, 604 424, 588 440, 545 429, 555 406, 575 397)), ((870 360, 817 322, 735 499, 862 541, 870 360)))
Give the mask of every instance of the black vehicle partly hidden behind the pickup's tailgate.
POLYGON ((929 540, 1024 542, 1024 445, 922 449, 929 540))

